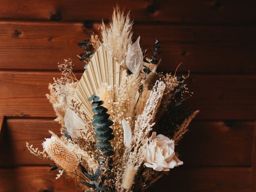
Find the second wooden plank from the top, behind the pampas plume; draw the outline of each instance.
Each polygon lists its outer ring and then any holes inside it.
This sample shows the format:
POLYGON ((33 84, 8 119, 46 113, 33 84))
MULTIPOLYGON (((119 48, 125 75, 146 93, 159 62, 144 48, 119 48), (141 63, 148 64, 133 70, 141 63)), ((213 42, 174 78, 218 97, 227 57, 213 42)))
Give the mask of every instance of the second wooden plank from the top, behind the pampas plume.
MULTIPOLYGON (((99 24, 91 25, 2 21, 0 69, 56 70, 58 62, 71 58, 75 70, 81 70, 77 43, 98 32, 99 24)), ((134 25, 134 38, 141 36, 144 48, 151 48, 154 38, 160 40, 161 71, 173 71, 183 62, 182 68, 192 72, 254 74, 255 32, 254 27, 134 25)))

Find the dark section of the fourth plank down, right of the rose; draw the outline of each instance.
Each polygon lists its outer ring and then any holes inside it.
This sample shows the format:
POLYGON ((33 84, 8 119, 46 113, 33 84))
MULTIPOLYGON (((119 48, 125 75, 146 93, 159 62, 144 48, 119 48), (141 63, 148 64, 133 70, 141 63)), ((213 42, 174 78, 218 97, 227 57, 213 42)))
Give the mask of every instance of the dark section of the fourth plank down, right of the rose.
POLYGON ((176 148, 188 166, 250 166, 254 122, 197 122, 176 148))

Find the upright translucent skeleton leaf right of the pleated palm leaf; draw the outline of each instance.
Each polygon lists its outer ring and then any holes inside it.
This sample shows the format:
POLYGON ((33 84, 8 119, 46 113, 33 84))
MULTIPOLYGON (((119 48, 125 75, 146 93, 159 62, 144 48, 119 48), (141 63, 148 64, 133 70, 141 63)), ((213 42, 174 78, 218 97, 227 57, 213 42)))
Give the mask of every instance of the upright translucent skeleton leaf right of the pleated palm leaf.
POLYGON ((134 44, 130 46, 126 55, 126 65, 128 69, 136 74, 140 71, 143 65, 143 54, 140 48, 140 36, 134 44))

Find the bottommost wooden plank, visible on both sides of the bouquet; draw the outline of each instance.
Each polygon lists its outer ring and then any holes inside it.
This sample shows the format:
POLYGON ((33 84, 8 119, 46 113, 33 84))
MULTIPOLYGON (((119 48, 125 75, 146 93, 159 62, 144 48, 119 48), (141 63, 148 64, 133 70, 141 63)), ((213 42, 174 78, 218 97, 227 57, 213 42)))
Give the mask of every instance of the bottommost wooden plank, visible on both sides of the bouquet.
MULTIPOLYGON (((30 166, 0 169, 3 192, 70 192, 76 185, 71 179, 56 180, 49 167, 30 166)), ((148 192, 249 192, 250 168, 174 168, 169 177, 160 179, 148 192)), ((80 192, 79 188, 78 191, 80 192)))

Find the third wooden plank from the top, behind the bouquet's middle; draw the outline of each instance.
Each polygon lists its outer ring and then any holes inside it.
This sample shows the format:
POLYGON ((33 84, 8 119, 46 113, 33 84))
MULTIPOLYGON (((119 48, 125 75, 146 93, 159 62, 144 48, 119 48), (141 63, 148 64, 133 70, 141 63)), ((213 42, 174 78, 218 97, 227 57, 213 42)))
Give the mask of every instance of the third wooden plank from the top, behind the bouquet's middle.
MULTIPOLYGON (((45 94, 49 82, 59 75, 58 72, 0 72, 0 115, 54 117, 45 94)), ((192 74, 188 85, 194 95, 184 106, 201 110, 198 119, 255 119, 255 75, 192 74)))

